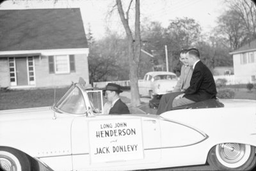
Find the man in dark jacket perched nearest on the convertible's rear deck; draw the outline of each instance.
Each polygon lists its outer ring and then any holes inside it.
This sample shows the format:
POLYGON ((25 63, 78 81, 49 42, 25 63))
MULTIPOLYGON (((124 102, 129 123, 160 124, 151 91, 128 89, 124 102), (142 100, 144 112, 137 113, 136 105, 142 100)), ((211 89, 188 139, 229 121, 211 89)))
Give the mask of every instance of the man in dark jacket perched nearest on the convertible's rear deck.
POLYGON ((190 48, 186 55, 189 66, 193 66, 190 86, 173 100, 173 107, 216 98, 217 91, 214 78, 209 68, 200 61, 199 51, 196 48, 190 48))

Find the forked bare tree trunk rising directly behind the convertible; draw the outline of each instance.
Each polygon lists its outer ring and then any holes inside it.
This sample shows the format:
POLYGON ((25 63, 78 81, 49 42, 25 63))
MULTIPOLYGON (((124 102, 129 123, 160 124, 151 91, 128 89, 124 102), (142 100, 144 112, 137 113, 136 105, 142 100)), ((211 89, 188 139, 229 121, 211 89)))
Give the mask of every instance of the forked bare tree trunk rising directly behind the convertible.
POLYGON ((129 56, 129 78, 131 81, 131 106, 136 107, 140 105, 140 95, 138 89, 138 69, 141 55, 141 37, 140 37, 140 0, 135 0, 135 31, 132 34, 129 26, 129 10, 131 8, 132 0, 129 7, 124 13, 121 0, 116 0, 118 13, 125 29, 128 41, 128 56, 129 56))

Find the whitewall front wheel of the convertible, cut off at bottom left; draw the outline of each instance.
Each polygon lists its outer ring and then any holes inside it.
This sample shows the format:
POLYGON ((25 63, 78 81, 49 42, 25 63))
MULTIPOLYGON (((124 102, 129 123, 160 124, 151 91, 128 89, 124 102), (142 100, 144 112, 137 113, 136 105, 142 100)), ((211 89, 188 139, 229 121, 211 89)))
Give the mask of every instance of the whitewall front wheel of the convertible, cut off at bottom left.
POLYGON ((30 171, 26 154, 8 147, 0 147, 0 168, 4 171, 30 171))

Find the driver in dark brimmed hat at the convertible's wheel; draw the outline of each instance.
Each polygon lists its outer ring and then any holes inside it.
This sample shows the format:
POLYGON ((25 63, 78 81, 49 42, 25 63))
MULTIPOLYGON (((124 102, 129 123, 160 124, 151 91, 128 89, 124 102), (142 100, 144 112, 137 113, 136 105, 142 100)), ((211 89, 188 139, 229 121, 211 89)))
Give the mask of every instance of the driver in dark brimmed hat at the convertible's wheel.
POLYGON ((105 96, 111 103, 109 114, 130 114, 127 105, 119 97, 119 94, 123 92, 120 85, 109 83, 105 91, 105 96))

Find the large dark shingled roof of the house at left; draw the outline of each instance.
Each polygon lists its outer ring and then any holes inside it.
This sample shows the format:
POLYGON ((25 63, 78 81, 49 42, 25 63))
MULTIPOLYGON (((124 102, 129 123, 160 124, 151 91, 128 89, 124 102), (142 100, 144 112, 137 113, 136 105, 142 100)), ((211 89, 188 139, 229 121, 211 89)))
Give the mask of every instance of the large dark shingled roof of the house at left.
POLYGON ((0 10, 0 51, 88 48, 79 8, 0 10))

